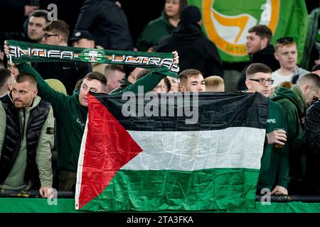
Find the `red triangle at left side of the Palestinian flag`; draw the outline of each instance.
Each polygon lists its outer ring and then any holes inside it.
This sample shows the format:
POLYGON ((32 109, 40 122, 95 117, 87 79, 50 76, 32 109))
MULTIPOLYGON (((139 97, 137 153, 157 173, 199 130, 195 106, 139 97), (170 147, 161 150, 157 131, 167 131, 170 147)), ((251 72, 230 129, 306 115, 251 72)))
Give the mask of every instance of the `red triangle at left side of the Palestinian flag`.
POLYGON ((87 101, 89 114, 79 209, 101 194, 117 171, 142 152, 142 148, 99 100, 87 94, 87 101))

